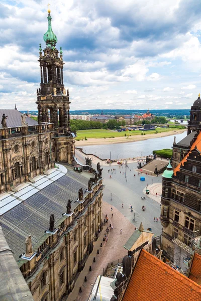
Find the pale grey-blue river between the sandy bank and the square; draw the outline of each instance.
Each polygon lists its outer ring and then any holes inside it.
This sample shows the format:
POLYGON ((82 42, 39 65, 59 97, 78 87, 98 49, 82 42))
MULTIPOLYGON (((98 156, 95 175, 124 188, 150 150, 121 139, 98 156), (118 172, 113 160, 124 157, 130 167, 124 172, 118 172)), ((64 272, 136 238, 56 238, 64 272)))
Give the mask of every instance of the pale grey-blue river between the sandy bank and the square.
MULTIPOLYGON (((176 142, 179 142, 187 134, 184 131, 176 135, 176 142)), ((135 158, 138 156, 148 156, 152 154, 153 150, 162 148, 171 148, 174 136, 166 136, 160 138, 147 139, 136 142, 104 144, 104 145, 88 145, 79 146, 83 148, 84 153, 94 154, 101 159, 109 159, 111 152, 111 159, 135 158)))

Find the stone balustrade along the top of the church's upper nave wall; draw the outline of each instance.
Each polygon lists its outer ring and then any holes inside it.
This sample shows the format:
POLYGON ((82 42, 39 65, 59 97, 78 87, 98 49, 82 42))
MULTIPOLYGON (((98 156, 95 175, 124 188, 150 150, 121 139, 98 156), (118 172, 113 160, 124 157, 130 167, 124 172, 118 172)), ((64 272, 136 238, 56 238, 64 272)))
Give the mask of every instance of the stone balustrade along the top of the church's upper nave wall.
POLYGON ((18 127, 5 127, 5 128, 0 128, 0 139, 33 135, 33 134, 49 132, 53 130, 54 127, 53 124, 51 123, 37 124, 37 125, 30 125, 30 126, 25 125, 25 126, 18 126, 18 127))

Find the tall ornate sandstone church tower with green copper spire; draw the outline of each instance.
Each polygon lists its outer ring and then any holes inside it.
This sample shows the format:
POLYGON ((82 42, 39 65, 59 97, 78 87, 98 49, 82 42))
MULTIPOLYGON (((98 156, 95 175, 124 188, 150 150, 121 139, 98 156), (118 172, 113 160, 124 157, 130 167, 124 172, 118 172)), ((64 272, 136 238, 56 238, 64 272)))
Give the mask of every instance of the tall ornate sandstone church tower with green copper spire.
POLYGON ((40 44, 39 63, 41 73, 40 88, 37 89, 38 123, 54 124, 55 160, 72 163, 74 154, 74 133, 70 131, 69 92, 63 83, 62 48, 56 49, 57 37, 52 31, 52 17, 48 9, 48 30, 44 34, 46 48, 40 44), (50 116, 50 120, 49 120, 50 116))

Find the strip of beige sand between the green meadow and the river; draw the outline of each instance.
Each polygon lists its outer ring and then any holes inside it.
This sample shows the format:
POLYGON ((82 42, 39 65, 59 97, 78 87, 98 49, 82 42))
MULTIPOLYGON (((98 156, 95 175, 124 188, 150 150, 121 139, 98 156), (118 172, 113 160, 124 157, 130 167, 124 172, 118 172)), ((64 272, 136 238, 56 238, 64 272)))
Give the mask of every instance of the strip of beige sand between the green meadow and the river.
MULTIPOLYGON (((181 134, 185 129, 177 129, 177 130, 171 130, 167 132, 161 132, 161 133, 153 133, 149 134, 146 132, 146 135, 133 135, 133 136, 122 136, 122 137, 115 137, 115 138, 88 138, 87 140, 80 140, 75 141, 75 146, 80 145, 103 145, 103 144, 113 144, 113 143, 124 143, 124 142, 135 142, 135 141, 142 141, 147 139, 153 139, 153 138, 160 138, 165 136, 171 136, 171 135, 177 135, 181 134)), ((172 141, 173 143, 173 141, 172 141)))

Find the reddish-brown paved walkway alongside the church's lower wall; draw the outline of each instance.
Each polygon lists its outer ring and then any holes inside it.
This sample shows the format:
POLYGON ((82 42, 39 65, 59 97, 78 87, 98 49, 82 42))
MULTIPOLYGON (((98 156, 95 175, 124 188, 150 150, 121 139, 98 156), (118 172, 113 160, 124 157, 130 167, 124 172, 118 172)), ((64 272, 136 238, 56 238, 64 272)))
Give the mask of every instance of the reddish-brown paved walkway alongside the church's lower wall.
POLYGON ((109 262, 120 259, 128 253, 128 251, 123 248, 123 245, 133 234, 135 226, 115 207, 113 207, 113 211, 111 211, 111 207, 111 204, 103 201, 104 218, 107 214, 109 222, 95 242, 93 252, 89 255, 84 269, 75 282, 75 287, 67 298, 68 301, 87 301, 97 275, 103 275, 104 269, 106 269, 109 262), (112 213, 114 214, 113 218, 112 213), (110 223, 114 228, 113 231, 109 232, 108 242, 104 242, 105 229, 110 226, 110 223), (120 234, 120 229, 122 229, 122 234, 120 234), (103 247, 100 247, 101 242, 103 247), (97 254, 97 249, 99 250, 99 254, 97 254), (95 257, 95 262, 93 262, 93 257, 95 257), (90 265, 92 268, 91 271, 89 271, 90 265), (84 281, 84 276, 87 277, 86 282, 84 281), (79 292, 80 286, 82 287, 81 293, 79 292))

